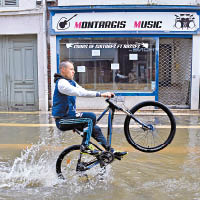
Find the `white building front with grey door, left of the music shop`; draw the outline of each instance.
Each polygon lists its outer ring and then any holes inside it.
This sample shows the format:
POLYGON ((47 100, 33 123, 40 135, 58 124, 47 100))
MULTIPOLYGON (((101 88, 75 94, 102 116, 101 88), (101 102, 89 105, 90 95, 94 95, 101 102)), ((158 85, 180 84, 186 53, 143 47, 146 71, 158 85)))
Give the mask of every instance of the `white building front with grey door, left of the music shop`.
POLYGON ((1 110, 48 110, 45 5, 0 1, 1 110))

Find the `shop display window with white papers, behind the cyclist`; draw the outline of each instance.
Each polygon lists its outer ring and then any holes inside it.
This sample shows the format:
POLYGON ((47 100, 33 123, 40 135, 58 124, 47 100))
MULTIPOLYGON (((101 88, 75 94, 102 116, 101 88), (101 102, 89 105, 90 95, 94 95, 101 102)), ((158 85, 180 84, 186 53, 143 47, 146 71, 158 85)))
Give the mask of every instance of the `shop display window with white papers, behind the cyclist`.
POLYGON ((75 66, 75 81, 90 90, 151 92, 155 89, 153 38, 68 38, 60 61, 75 66))

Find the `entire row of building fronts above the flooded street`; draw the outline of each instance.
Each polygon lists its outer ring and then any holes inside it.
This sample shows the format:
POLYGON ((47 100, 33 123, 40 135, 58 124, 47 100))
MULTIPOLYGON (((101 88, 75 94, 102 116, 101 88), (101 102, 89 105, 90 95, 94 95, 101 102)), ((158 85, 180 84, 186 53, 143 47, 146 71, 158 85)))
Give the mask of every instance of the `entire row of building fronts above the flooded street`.
MULTIPOLYGON (((199 4, 1 0, 0 110, 48 110, 62 60, 74 62, 80 85, 113 91, 128 107, 158 100, 198 109, 199 4)), ((78 101, 104 106, 103 98, 78 101)))

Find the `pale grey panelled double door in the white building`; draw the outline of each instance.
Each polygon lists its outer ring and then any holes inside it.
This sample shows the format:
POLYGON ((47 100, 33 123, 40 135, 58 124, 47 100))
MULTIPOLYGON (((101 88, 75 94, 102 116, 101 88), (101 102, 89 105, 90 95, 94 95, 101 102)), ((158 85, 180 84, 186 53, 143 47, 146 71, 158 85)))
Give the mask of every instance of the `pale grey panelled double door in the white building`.
POLYGON ((36 38, 4 36, 1 43, 1 109, 38 110, 36 38))

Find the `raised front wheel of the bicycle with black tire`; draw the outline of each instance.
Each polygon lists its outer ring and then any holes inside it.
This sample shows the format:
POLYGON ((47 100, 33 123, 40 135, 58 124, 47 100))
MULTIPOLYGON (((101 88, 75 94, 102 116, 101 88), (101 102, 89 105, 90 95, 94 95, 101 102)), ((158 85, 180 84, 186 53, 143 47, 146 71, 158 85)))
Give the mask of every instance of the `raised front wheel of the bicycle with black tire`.
POLYGON ((128 143, 135 149, 152 153, 160 151, 172 142, 176 133, 176 121, 167 106, 157 101, 144 101, 134 106, 130 112, 153 129, 147 131, 141 125, 139 126, 130 116, 126 116, 124 133, 128 143), (146 109, 148 111, 149 107, 156 108, 153 115, 145 114, 146 109), (163 125, 164 123, 166 125, 163 125), (150 140, 153 141, 150 142, 150 140))

